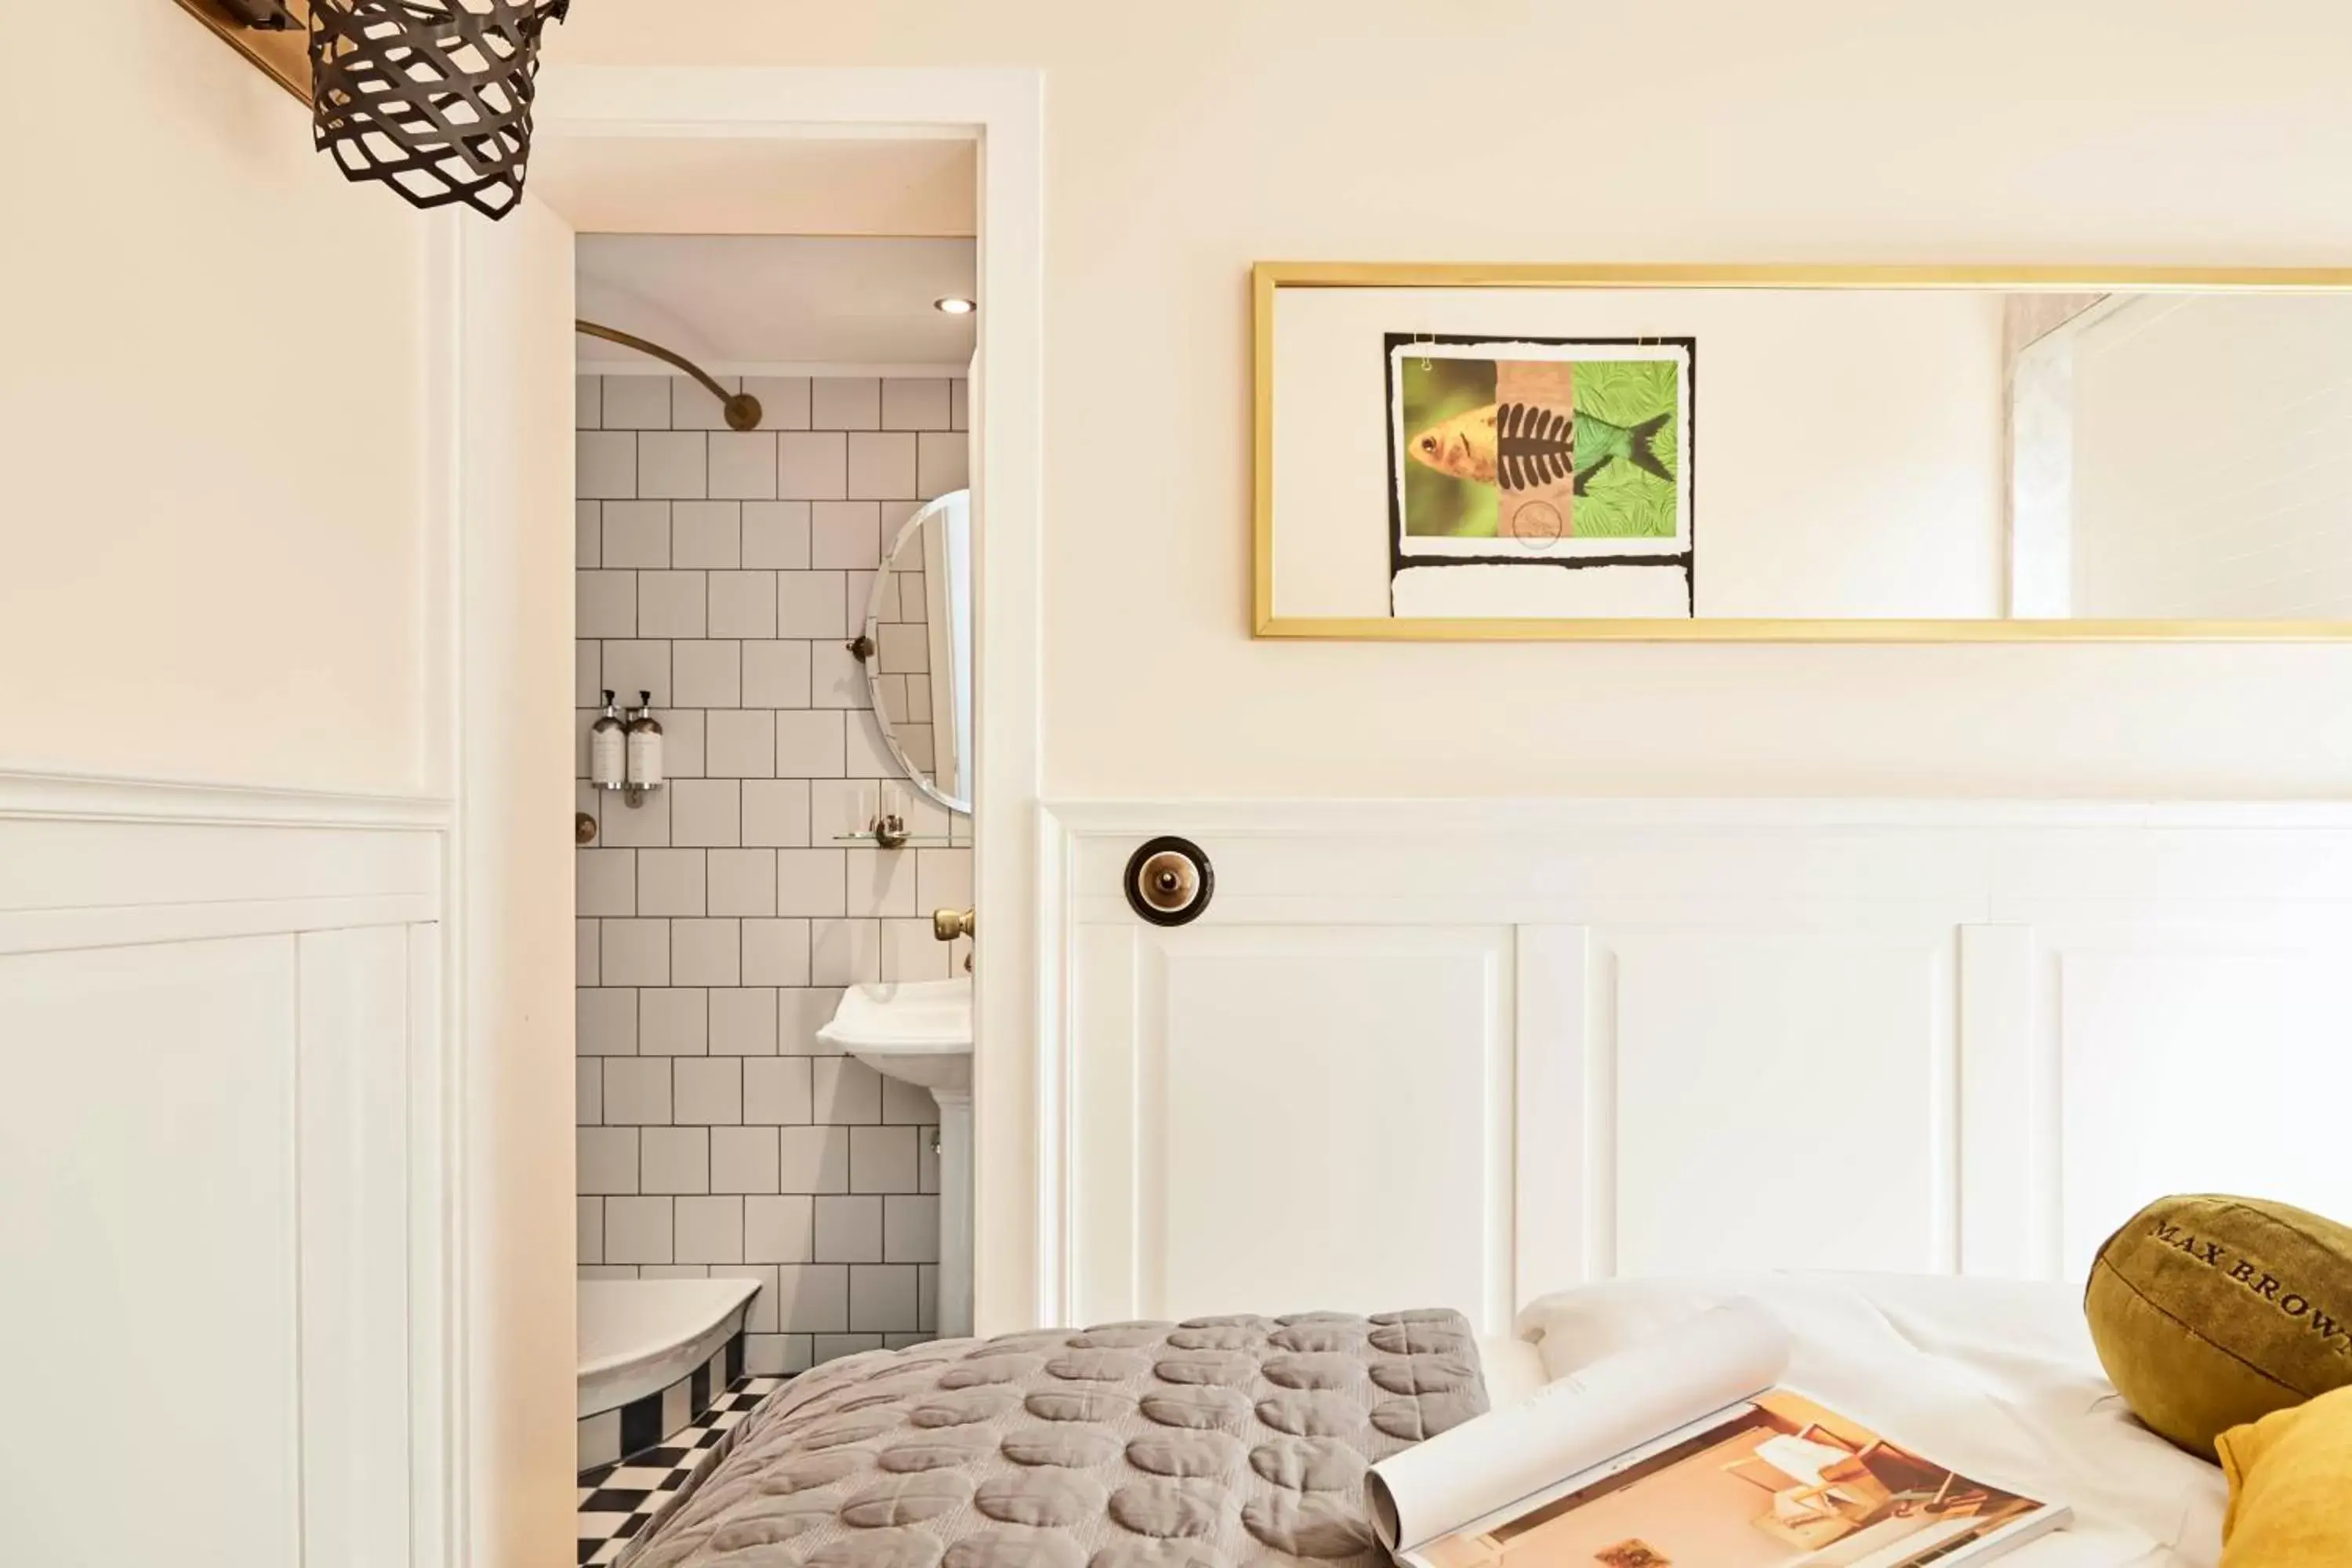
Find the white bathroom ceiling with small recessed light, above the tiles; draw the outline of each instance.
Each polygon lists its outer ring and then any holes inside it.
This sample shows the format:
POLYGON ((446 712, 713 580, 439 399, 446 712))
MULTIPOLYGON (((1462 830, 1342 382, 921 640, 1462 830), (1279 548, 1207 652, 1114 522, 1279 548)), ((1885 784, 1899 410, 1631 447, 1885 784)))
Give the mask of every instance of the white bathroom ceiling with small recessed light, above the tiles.
MULTIPOLYGON (((788 367, 964 367, 974 317, 931 301, 976 289, 971 240, 581 235, 579 315, 710 374, 788 367)), ((647 364, 579 339, 581 360, 647 364)))

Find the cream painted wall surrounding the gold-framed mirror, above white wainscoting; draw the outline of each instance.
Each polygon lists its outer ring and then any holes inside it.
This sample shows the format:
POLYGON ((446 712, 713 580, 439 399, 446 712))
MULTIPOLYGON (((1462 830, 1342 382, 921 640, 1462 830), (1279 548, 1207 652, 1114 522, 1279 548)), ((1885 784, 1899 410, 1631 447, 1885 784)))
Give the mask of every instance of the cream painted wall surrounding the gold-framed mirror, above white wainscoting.
POLYGON ((597 0, 553 56, 1047 68, 1049 795, 2352 790, 2331 646, 1247 632, 1251 261, 2345 263, 2324 0, 597 0))

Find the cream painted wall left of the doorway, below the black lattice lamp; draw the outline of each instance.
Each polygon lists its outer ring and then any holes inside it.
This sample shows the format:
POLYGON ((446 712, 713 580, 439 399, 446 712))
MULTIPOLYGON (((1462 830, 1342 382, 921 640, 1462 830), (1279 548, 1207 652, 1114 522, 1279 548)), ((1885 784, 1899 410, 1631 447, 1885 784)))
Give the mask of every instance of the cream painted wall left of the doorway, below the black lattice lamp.
POLYGON ((430 223, 160 0, 0 49, 0 769, 402 792, 430 223))

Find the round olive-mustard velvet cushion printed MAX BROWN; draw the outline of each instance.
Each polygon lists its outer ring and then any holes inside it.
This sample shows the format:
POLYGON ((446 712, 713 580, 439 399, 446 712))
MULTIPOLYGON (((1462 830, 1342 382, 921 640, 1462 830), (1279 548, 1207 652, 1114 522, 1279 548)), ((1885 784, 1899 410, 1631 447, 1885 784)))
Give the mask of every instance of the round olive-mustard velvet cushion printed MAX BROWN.
POLYGON ((2133 1415, 2213 1458, 2230 1427, 2352 1385, 2352 1229, 2286 1204, 2157 1199, 2100 1246, 2084 1314, 2133 1415))

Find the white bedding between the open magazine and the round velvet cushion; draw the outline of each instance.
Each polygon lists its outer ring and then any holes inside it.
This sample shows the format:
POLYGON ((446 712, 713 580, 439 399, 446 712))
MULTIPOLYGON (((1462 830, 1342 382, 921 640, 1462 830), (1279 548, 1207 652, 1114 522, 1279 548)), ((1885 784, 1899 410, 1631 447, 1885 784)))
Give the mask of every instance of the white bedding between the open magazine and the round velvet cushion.
MULTIPOLYGON (((1792 1387, 1964 1474, 2074 1507, 2072 1530, 2004 1563, 2213 1568, 2220 1556, 2220 1469, 2131 1420, 2067 1286, 1877 1274, 1599 1286, 1621 1295, 1618 1309, 1646 1288, 1658 1293, 1658 1326, 1693 1295, 1757 1298, 1795 1340, 1792 1387)), ((1522 1314, 1522 1333, 1534 1338, 1541 1316, 1522 1314)), ((1494 1403, 1541 1387, 1541 1356, 1529 1385, 1519 1352, 1479 1349, 1494 1403)))

